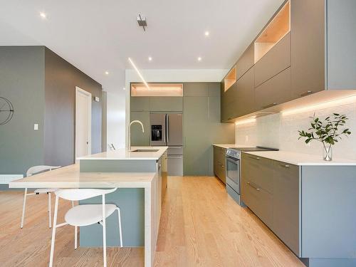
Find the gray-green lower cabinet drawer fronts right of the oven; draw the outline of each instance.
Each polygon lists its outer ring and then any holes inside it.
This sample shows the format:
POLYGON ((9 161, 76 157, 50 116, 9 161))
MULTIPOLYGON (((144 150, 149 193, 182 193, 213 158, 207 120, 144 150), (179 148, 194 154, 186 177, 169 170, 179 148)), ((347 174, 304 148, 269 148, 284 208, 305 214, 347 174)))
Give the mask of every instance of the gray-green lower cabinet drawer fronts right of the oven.
POLYGON ((242 154, 241 197, 297 256, 300 255, 300 167, 242 154))

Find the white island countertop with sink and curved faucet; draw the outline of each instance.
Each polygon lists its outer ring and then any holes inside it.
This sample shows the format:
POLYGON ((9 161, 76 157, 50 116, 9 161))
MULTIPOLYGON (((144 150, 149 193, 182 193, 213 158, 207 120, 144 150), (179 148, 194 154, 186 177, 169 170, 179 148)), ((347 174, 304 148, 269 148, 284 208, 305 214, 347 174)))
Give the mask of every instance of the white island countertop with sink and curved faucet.
POLYGON ((159 159, 168 147, 131 147, 128 151, 125 148, 110 150, 98 154, 78 157, 77 159, 159 159), (133 150, 158 150, 157 152, 132 152, 133 150))

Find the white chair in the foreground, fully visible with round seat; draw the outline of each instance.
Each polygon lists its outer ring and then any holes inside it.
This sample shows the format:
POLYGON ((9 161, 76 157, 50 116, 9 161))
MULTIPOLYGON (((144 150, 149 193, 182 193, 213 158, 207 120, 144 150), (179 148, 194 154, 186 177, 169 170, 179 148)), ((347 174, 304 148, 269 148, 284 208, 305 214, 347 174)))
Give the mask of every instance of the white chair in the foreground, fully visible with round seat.
POLYGON ((67 224, 74 226, 74 248, 77 248, 78 226, 88 226, 91 224, 101 224, 103 226, 103 261, 106 267, 106 218, 117 210, 119 220, 120 247, 122 247, 121 213, 120 208, 115 204, 105 204, 105 194, 115 192, 114 189, 58 189, 56 194, 56 205, 54 208, 51 254, 49 267, 53 266, 54 241, 56 239, 56 229, 67 224), (83 204, 69 209, 64 216, 65 222, 57 224, 58 200, 67 199, 71 201, 80 201, 92 197, 102 196, 102 204, 83 204))

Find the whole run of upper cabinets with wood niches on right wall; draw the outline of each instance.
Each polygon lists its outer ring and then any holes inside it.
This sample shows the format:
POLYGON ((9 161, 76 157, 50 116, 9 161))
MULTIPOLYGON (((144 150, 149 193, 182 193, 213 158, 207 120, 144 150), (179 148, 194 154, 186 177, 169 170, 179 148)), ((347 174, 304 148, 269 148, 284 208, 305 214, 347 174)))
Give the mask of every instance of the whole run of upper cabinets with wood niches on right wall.
POLYGON ((355 9, 355 0, 284 1, 221 81, 221 122, 280 112, 281 104, 313 93, 323 99, 351 95, 355 9))

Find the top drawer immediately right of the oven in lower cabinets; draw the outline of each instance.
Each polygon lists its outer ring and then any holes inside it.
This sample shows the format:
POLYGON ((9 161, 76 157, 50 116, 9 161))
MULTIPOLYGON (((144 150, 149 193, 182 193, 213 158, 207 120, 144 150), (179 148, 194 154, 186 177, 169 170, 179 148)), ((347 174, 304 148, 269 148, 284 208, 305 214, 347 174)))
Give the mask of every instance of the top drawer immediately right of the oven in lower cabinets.
POLYGON ((273 193, 273 161, 255 155, 242 154, 241 179, 248 180, 273 193))

